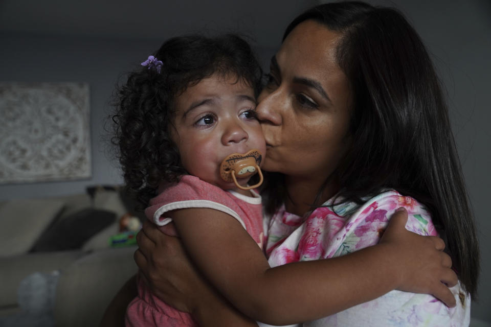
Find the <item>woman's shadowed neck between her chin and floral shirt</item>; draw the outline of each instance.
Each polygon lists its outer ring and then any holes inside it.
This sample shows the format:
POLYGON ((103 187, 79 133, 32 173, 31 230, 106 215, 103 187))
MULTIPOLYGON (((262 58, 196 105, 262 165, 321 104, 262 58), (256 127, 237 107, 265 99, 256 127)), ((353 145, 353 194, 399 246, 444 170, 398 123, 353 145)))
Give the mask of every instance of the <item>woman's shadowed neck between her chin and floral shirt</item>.
MULTIPOLYGON (((297 216, 303 216, 312 209, 319 190, 324 183, 322 179, 308 179, 304 177, 285 176, 287 197, 285 210, 297 216)), ((322 204, 339 191, 338 184, 330 181, 325 186, 316 205, 322 204)))

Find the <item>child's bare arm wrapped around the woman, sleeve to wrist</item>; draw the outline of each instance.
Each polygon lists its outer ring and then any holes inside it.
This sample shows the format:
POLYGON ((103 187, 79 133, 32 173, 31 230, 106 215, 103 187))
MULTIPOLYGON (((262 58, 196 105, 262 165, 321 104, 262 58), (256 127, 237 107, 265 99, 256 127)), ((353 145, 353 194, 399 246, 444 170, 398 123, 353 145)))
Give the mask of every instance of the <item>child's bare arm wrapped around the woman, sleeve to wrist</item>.
MULTIPOLYGON (((339 258, 270 268, 254 240, 229 215, 191 208, 170 216, 199 270, 240 312, 262 322, 325 317, 400 288, 401 281, 422 269, 412 243, 399 244, 397 250, 382 243, 339 258)), ((450 296, 446 302, 452 304, 450 296)))

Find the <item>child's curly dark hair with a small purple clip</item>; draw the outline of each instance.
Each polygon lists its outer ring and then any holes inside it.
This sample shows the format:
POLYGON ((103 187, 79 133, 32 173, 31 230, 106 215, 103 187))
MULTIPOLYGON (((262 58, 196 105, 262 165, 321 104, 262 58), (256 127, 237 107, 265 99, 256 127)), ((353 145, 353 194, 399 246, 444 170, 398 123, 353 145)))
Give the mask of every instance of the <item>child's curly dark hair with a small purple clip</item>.
POLYGON ((187 174, 170 137, 176 97, 213 74, 244 81, 256 96, 261 88, 261 67, 238 35, 174 37, 154 56, 163 63, 160 73, 148 66, 129 73, 126 83, 117 86, 112 116, 111 143, 139 209, 148 205, 162 181, 176 182, 187 174))

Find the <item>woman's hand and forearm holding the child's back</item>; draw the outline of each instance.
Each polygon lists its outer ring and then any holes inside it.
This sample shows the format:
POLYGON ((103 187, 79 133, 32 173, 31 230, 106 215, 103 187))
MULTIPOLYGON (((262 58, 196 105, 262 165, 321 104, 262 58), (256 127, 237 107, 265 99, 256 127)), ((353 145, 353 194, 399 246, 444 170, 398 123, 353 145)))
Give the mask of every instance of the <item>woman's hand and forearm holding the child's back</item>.
POLYGON ((133 256, 152 293, 177 310, 193 315, 206 326, 256 326, 219 295, 196 271, 173 224, 159 230, 145 221, 137 235, 133 256))

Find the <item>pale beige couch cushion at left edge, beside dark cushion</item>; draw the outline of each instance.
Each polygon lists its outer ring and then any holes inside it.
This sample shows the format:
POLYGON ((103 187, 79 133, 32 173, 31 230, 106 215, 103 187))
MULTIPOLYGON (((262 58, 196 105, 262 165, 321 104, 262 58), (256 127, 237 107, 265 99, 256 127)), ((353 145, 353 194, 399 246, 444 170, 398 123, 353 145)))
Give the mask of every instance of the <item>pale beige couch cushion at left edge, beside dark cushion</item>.
POLYGON ((0 207, 0 256, 27 253, 55 220, 64 202, 51 199, 11 200, 0 207))

